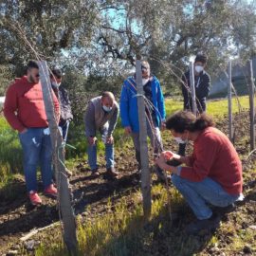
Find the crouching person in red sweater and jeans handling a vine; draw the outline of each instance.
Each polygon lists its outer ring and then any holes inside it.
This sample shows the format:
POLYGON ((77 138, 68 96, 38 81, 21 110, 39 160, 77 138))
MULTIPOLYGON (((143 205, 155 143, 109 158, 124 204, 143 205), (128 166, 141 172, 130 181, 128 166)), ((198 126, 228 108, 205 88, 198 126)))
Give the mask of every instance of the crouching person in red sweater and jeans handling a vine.
POLYGON ((206 114, 196 118, 188 111, 175 113, 167 119, 166 128, 179 143, 192 140, 192 155, 181 156, 166 151, 156 159, 161 169, 171 171, 174 187, 197 217, 197 221, 187 227, 190 234, 218 227, 219 216, 212 213, 208 204, 226 208, 243 197, 239 156, 229 137, 213 126, 213 120, 206 114), (170 159, 185 166, 170 166, 170 159))

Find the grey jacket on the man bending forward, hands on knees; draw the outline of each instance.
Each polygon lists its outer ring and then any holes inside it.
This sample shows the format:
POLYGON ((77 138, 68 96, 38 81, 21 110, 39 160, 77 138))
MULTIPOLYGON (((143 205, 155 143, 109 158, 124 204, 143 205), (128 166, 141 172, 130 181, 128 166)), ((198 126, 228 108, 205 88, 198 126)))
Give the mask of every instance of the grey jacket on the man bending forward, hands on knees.
POLYGON ((85 136, 95 137, 97 130, 107 127, 107 135, 111 136, 119 118, 119 104, 114 101, 112 110, 106 113, 101 106, 101 96, 89 101, 84 114, 85 136))

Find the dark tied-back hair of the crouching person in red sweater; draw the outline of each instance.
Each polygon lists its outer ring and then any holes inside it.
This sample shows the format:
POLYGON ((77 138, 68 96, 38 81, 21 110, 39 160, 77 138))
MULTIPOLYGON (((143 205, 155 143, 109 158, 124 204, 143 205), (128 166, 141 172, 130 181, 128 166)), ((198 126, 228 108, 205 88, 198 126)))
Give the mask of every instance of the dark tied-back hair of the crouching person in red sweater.
POLYGON ((210 126, 214 126, 214 121, 205 113, 196 118, 192 112, 178 111, 166 120, 166 128, 180 134, 184 133, 185 130, 190 132, 202 131, 210 126))

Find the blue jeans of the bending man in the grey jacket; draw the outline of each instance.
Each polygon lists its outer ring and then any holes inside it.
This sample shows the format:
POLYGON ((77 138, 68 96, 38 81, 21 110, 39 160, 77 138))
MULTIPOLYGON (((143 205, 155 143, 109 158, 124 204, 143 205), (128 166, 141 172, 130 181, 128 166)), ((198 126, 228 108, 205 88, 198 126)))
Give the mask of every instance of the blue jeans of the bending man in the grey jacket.
MULTIPOLYGON (((105 139, 107 137, 108 127, 103 127, 101 130, 101 138, 105 144, 105 160, 106 160, 106 168, 114 167, 114 144, 105 143, 105 139)), ((88 154, 88 162, 91 170, 97 170, 97 142, 95 145, 88 145, 87 149, 88 154)))

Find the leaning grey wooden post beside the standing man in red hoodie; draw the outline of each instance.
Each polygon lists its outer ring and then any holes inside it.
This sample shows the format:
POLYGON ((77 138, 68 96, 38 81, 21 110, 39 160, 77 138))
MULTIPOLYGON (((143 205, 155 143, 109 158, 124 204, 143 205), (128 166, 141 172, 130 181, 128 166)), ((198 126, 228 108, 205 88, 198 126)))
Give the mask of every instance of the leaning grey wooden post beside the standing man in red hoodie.
POLYGON ((70 255, 77 255, 76 221, 71 205, 69 183, 64 168, 64 149, 62 147, 63 138, 58 129, 52 100, 53 91, 51 89, 48 68, 45 61, 39 62, 39 72, 46 107, 46 117, 49 124, 51 143, 53 147, 53 165, 58 187, 58 203, 61 210, 64 228, 64 243, 70 255))

